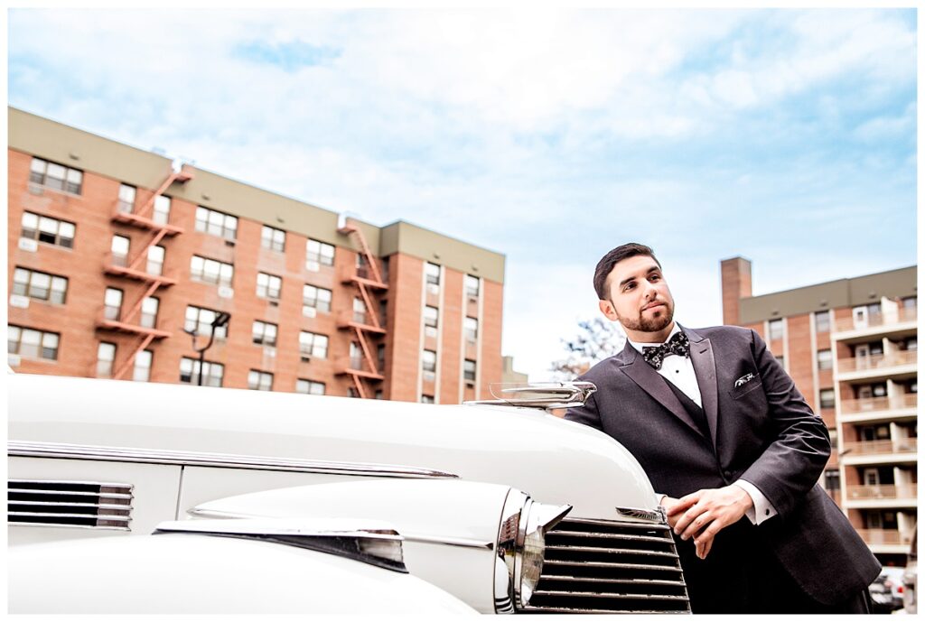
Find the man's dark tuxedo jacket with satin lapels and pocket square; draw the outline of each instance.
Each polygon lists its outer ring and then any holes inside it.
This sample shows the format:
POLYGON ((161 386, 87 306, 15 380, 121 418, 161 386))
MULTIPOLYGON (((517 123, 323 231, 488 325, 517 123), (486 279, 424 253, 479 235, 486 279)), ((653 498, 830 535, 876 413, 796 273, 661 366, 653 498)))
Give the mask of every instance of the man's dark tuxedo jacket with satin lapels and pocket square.
POLYGON ((880 563, 817 483, 832 451, 825 424, 755 331, 682 330, 690 339, 709 438, 629 342, 582 376, 598 391, 565 418, 619 441, 659 493, 682 497, 740 478, 754 484, 778 516, 748 526, 748 533, 763 539, 820 603, 840 603, 867 588, 880 563))

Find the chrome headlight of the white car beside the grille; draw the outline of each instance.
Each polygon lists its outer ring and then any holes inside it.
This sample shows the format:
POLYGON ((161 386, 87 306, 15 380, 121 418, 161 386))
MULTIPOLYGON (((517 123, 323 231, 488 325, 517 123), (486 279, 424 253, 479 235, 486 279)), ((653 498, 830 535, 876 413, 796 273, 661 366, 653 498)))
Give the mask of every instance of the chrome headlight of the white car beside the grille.
POLYGON ((511 613, 530 602, 543 571, 546 532, 571 510, 572 506, 537 503, 518 490, 508 493, 498 531, 499 563, 495 565, 498 613, 511 613), (504 574, 507 580, 503 580, 504 574))

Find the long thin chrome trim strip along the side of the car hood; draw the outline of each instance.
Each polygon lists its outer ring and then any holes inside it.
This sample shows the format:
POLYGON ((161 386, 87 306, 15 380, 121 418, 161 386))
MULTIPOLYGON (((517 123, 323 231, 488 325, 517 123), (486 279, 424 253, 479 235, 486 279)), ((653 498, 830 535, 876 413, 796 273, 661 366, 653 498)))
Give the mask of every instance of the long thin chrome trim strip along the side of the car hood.
POLYGON ((327 462, 297 457, 277 458, 243 456, 239 454, 212 454, 205 452, 143 449, 138 447, 111 447, 105 445, 71 445, 68 443, 36 443, 9 441, 6 453, 19 457, 63 457, 112 462, 145 462, 179 464, 195 467, 224 467, 229 469, 286 470, 303 473, 327 473, 366 477, 397 478, 458 478, 442 470, 418 469, 402 465, 365 462, 327 462))

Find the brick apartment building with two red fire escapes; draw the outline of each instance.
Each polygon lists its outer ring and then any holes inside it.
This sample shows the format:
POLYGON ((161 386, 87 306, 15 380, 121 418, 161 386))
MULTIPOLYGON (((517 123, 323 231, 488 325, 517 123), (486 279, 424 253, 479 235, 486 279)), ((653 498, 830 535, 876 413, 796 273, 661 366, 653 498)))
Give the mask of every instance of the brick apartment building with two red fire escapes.
POLYGON ((453 404, 501 381, 503 255, 15 108, 8 127, 14 371, 453 404), (200 378, 187 332, 214 327, 200 378))

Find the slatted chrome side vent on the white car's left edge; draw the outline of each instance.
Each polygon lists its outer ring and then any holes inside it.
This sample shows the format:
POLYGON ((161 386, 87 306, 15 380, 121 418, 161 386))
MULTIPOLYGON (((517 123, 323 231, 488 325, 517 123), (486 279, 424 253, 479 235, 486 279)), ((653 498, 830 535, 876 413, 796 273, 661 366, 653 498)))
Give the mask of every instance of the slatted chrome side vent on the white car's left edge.
POLYGON ((129 531, 131 490, 128 483, 9 480, 6 520, 10 525, 129 531))

